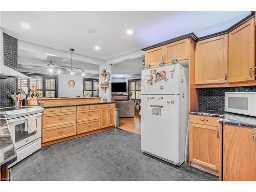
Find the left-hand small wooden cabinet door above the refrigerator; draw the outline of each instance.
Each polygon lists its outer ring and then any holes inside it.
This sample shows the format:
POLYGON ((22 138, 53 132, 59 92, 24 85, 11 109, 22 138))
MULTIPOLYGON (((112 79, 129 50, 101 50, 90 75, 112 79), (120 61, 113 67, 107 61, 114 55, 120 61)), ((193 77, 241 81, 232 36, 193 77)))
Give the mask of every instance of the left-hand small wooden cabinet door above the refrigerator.
POLYGON ((163 61, 164 46, 147 50, 145 53, 145 64, 151 66, 158 66, 163 61))

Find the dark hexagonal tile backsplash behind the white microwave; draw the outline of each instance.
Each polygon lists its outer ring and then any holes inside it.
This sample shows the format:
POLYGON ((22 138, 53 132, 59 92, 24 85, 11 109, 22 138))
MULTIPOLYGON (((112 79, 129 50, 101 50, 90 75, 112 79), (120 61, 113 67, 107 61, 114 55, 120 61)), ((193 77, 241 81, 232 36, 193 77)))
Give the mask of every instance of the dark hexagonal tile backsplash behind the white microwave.
POLYGON ((199 109, 224 111, 225 92, 256 92, 256 86, 234 88, 204 88, 199 90, 199 109))

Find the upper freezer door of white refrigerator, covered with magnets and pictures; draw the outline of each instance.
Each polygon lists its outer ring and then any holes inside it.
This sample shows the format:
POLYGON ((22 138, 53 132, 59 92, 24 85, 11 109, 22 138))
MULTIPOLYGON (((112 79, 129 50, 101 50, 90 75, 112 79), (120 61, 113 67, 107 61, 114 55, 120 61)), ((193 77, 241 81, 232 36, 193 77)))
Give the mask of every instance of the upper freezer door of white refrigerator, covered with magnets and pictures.
POLYGON ((177 94, 180 82, 179 64, 143 70, 142 94, 177 94))

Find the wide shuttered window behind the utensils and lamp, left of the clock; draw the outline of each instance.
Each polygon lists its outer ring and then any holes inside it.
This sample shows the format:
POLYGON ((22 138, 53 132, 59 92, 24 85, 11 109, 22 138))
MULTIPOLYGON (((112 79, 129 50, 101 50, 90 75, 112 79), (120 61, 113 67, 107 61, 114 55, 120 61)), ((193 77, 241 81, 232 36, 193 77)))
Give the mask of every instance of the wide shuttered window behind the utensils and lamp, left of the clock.
POLYGON ((35 86, 36 91, 41 93, 41 97, 58 97, 58 76, 57 75, 42 75, 26 73, 30 79, 18 78, 18 89, 28 90, 28 95, 31 96, 31 88, 35 86), (27 89, 25 89, 27 88, 27 89))

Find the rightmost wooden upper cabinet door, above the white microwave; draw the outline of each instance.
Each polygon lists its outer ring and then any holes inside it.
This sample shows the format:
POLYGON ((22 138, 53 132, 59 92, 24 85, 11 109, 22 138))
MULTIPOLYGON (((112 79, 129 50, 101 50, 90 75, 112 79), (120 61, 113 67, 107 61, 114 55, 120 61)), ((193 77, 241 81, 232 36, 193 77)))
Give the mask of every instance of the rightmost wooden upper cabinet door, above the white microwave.
POLYGON ((254 18, 228 34, 228 81, 254 80, 254 18))

